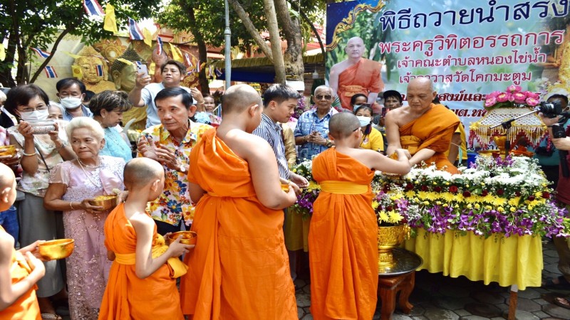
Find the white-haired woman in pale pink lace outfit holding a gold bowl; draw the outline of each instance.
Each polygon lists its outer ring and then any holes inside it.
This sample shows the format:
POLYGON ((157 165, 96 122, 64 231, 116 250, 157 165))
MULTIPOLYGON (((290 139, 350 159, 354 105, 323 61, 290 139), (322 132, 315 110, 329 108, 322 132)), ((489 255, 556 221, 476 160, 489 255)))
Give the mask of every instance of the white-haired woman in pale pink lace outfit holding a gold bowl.
POLYGON ((71 319, 97 319, 111 265, 103 235, 109 211, 89 201, 113 194, 115 188, 123 190, 125 161, 99 155, 105 132, 93 119, 73 118, 66 132, 77 159, 53 169, 44 206, 63 211, 66 238, 75 240, 73 255, 67 258, 71 319))

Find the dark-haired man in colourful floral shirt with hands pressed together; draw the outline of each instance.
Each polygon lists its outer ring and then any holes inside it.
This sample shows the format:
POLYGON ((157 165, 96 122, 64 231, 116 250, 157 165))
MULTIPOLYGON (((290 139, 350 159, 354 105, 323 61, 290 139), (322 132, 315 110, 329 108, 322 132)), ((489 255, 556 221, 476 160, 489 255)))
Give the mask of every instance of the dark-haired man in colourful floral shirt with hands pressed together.
POLYGON ((180 230, 182 220, 192 223, 194 207, 188 192, 190 151, 202 134, 212 128, 192 122, 196 112, 192 95, 180 87, 162 89, 155 97, 160 124, 142 132, 138 156, 154 159, 165 169, 165 188, 148 211, 157 224, 157 233, 180 230))

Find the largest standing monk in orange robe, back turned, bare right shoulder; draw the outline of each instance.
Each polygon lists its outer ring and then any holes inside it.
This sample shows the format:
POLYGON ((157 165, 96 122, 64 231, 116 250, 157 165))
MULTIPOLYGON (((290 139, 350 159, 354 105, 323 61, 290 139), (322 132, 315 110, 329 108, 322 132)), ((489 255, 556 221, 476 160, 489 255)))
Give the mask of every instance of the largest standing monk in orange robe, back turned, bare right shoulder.
POLYGON ((202 319, 298 319, 283 236, 281 189, 271 146, 251 134, 263 103, 249 85, 229 87, 224 121, 190 154, 190 196, 197 201, 195 250, 180 282, 184 314, 202 319))

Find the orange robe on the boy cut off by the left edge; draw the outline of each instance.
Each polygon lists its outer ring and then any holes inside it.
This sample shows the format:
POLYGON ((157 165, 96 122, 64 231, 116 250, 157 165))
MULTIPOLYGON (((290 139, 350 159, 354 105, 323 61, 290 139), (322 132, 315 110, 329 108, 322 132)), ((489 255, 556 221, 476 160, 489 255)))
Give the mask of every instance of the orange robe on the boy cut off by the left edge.
MULTIPOLYGON (((6 233, 4 228, 0 226, 0 233, 6 233)), ((12 249, 12 264, 10 268, 10 275, 12 283, 20 282, 22 279, 28 277, 31 273, 31 268, 26 261, 24 255, 12 249)), ((0 319, 2 320, 41 320, 40 306, 38 305, 38 298, 36 297, 36 285, 34 284, 25 294, 22 294, 13 304, 8 308, 0 311, 0 319)))

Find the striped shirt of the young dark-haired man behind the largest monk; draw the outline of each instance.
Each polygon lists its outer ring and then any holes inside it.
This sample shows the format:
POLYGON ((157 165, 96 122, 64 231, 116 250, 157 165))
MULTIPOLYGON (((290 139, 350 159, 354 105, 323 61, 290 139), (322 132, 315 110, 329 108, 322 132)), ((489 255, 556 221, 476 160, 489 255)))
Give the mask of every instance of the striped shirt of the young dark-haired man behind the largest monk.
POLYGON ((289 167, 287 166, 287 159, 285 158, 285 144, 283 142, 282 130, 279 124, 273 122, 271 118, 263 113, 261 114, 259 127, 257 127, 252 134, 269 142, 277 158, 279 177, 289 179, 289 167))

